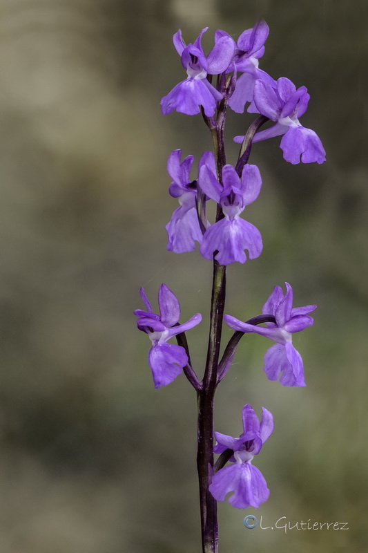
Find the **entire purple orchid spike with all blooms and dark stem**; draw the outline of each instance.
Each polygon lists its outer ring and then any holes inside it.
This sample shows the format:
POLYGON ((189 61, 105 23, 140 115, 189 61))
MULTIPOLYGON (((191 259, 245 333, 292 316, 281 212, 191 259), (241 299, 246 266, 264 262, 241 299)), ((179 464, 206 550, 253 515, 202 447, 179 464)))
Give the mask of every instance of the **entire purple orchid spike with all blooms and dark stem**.
POLYGON ((259 421, 252 406, 246 404, 242 409, 243 432, 239 438, 218 432, 213 434, 216 386, 228 373, 240 338, 249 333, 275 342, 264 355, 264 373, 269 380, 278 381, 282 386, 305 386, 302 357, 293 346, 292 337, 294 332, 313 325, 309 313, 316 308, 314 305, 293 308, 293 290, 289 283, 285 283, 285 292, 279 285, 273 288, 260 315, 246 321, 224 315, 226 266, 258 258, 263 247, 260 230, 243 217, 246 207, 258 199, 262 187, 260 169, 248 162, 252 145, 282 136, 283 157, 291 164, 300 160, 320 164, 325 161, 325 149, 318 135, 299 121, 309 102, 307 88, 296 88, 286 77, 273 79, 259 68, 269 34, 265 21, 258 21, 253 28, 242 32, 236 42, 223 30, 217 30, 215 44, 208 55, 201 44, 206 30, 204 28, 188 46, 180 30, 173 36, 186 78, 161 100, 164 114, 177 111, 196 115, 202 112, 213 138, 214 153, 205 151, 202 154, 194 176, 191 175, 193 156, 182 159, 182 151, 175 149, 167 161, 167 171, 172 179, 168 191, 179 201, 179 207, 166 225, 167 249, 180 254, 195 250, 198 244, 202 257, 213 261, 210 336, 203 379, 200 380, 193 370, 185 335, 187 330, 200 324, 202 316, 199 313, 180 324, 180 303, 173 291, 162 284, 158 296, 159 312, 153 312, 142 288, 145 310, 136 310, 135 315, 139 330, 151 340, 148 365, 155 388, 171 384, 184 373, 197 391, 202 541, 204 550, 215 552, 215 501, 224 501, 227 494, 233 492, 229 503, 245 509, 249 506, 258 508, 269 497, 264 477, 251 462, 273 432, 271 413, 262 407, 259 421), (234 138, 242 147, 238 162, 233 166, 226 164, 224 154, 226 110, 241 114, 246 104, 248 113, 256 114, 257 119, 244 135, 234 138), (267 123, 268 128, 260 131, 260 127, 267 123), (206 216, 206 206, 211 200, 217 209, 212 223, 206 216), (235 333, 220 358, 223 321, 235 333), (169 343, 173 338, 177 344, 169 343), (212 447, 213 439, 216 440, 215 447, 212 447), (220 456, 215 464, 212 450, 220 456), (227 462, 231 464, 225 466, 227 462))

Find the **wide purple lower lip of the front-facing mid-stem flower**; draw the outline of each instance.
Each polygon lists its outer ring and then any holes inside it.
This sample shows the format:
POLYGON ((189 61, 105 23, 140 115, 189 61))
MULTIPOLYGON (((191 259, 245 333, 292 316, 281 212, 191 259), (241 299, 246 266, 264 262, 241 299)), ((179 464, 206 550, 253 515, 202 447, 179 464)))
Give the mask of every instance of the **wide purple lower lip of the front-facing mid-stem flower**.
POLYGON ((255 259, 262 252, 262 236, 254 225, 235 217, 233 221, 224 218, 211 225, 203 236, 200 253, 204 259, 212 259, 213 252, 218 250, 215 259, 220 265, 244 263, 248 250, 249 259, 255 259))

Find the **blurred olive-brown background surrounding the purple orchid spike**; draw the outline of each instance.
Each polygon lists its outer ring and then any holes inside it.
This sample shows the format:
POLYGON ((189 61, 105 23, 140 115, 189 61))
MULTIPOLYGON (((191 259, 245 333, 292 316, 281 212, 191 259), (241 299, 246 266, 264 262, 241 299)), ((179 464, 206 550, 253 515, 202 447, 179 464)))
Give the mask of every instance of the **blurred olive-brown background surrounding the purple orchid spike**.
MULTIPOLYGON (((296 335, 307 387, 262 371, 244 338, 217 394, 216 429, 238 435, 249 402, 273 413, 257 459, 271 496, 258 512, 219 505, 223 551, 365 551, 367 540, 367 3, 365 0, 1 0, 0 552, 200 551, 195 395, 184 377, 155 390, 133 309, 162 282, 182 302, 202 373, 211 263, 166 252, 166 158, 211 148, 200 116, 162 116, 184 78, 171 36, 258 17, 262 68, 311 93, 302 122, 324 165, 291 166, 257 144, 262 194, 247 208, 259 259, 229 268, 226 312, 257 315, 289 281, 317 303, 296 335), (247 530, 283 521, 348 531, 247 530)), ((207 50, 208 51, 208 50, 207 50)), ((228 160, 251 115, 229 114, 228 160)), ((231 332, 225 330, 225 337, 231 332)))

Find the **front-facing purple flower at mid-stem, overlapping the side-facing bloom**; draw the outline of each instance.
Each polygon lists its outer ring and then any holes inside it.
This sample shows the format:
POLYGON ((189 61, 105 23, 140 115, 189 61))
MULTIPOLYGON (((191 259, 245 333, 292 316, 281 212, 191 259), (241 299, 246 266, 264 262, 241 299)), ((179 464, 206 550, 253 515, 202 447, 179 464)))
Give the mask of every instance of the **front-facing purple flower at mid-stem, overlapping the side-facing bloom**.
POLYGON ((248 250, 249 259, 255 259, 262 252, 260 231, 240 217, 244 207, 258 198, 262 178, 256 165, 245 165, 241 179, 231 165, 225 165, 222 182, 223 187, 209 165, 201 167, 198 183, 206 196, 221 205, 224 218, 206 229, 200 252, 204 259, 212 259, 217 251, 215 259, 220 265, 244 263, 244 250, 248 250))

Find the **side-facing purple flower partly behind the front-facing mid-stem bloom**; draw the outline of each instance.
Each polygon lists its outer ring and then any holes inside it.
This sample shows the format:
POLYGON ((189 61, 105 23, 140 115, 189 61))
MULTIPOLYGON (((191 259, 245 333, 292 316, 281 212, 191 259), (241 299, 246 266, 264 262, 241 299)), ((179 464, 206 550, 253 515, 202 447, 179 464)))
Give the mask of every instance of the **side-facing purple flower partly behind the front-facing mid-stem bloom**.
MULTIPOLYGON (((168 234, 167 249, 175 254, 195 250, 195 241, 202 242, 202 230, 197 216, 197 180, 191 181, 189 173, 193 165, 193 156, 188 156, 180 163, 181 150, 174 150, 168 156, 167 171, 173 179, 168 189, 173 198, 178 198, 180 207, 175 209, 171 221, 166 225, 168 234)), ((215 157, 210 151, 200 158, 198 171, 202 165, 208 165, 213 173, 216 172, 215 157)))

